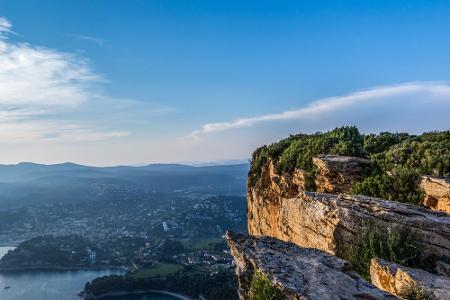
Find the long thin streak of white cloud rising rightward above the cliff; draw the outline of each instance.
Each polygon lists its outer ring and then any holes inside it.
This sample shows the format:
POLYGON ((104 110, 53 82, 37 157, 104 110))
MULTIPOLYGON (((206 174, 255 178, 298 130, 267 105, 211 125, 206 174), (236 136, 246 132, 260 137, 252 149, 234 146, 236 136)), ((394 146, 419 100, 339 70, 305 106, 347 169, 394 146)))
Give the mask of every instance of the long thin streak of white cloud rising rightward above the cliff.
MULTIPOLYGON (((229 122, 207 123, 200 130, 193 131, 188 137, 198 138, 201 134, 214 133, 232 129, 252 127, 259 123, 282 122, 289 120, 314 120, 330 112, 338 112, 353 108, 356 110, 367 104, 382 102, 390 99, 403 105, 418 105, 418 102, 431 100, 444 100, 450 103, 450 86, 442 82, 410 82, 392 86, 375 87, 358 91, 345 96, 320 99, 307 104, 303 108, 287 110, 281 113, 267 114, 256 117, 241 118, 229 122), (409 98, 408 98, 409 97, 409 98)), ((385 107, 389 110, 389 106, 385 107)), ((382 117, 382 115, 380 115, 382 117)))

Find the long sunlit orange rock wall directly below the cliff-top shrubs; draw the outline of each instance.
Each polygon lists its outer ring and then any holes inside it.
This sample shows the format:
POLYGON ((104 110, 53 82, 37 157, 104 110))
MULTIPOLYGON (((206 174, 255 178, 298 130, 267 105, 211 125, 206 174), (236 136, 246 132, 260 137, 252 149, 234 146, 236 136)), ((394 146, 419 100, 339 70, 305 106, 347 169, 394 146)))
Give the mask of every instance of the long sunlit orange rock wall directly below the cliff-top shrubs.
POLYGON ((340 255, 368 223, 420 233, 422 255, 450 259, 450 216, 404 203, 349 195, 283 191, 266 168, 248 187, 248 229, 340 255))

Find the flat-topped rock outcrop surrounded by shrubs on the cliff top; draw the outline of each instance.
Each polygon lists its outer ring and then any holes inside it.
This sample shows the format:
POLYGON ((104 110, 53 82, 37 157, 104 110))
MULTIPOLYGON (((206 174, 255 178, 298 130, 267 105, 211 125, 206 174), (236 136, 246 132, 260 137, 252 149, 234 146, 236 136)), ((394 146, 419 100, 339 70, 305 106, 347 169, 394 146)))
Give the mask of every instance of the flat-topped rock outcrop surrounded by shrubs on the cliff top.
POLYGON ((319 155, 313 163, 317 167, 316 190, 321 193, 348 193, 370 170, 370 160, 359 157, 319 155))

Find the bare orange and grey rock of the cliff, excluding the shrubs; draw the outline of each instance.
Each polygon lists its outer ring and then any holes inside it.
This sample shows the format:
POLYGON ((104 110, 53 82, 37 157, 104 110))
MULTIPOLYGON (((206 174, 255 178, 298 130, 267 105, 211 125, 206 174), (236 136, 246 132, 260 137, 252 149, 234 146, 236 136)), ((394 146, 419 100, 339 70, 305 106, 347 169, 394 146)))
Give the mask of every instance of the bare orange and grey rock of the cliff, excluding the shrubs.
POLYGON ((418 260, 434 273, 375 259, 370 274, 376 287, 401 297, 401 291, 411 285, 423 292, 422 296, 449 299, 450 215, 435 211, 446 210, 448 181, 422 177, 424 205, 434 209, 430 210, 349 195, 353 183, 370 171, 367 159, 320 155, 313 163, 316 190, 321 192, 305 191, 306 172, 279 173, 271 160, 262 166, 258 180, 248 183, 248 230, 252 236, 228 236, 241 299, 248 298, 255 272, 265 274, 288 299, 356 299, 361 298, 356 296, 359 293, 366 299, 387 297, 363 283, 349 264, 338 258, 357 246, 369 227, 413 232, 420 248, 418 260), (318 282, 326 284, 321 287, 318 282))

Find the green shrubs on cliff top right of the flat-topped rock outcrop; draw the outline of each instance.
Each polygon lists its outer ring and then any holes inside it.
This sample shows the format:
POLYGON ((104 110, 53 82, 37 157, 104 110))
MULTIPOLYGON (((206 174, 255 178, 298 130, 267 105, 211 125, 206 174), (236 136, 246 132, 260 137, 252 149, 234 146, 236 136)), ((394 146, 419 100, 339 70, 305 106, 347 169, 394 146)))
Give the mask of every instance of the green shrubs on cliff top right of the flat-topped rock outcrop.
POLYGON ((372 172, 355 184, 355 194, 420 205, 421 174, 450 176, 450 131, 368 135, 364 148, 370 154, 372 172))

